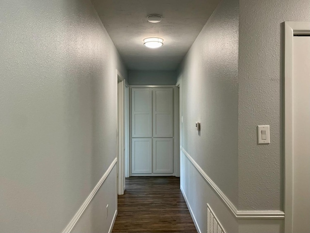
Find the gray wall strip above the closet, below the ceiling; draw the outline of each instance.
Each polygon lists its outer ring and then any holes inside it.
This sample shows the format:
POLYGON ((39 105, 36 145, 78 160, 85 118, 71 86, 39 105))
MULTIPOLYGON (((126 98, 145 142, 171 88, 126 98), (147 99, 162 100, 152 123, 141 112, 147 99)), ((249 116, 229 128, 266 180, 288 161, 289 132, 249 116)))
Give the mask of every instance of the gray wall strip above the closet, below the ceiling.
POLYGON ((177 72, 129 70, 128 76, 130 85, 174 85, 177 72))

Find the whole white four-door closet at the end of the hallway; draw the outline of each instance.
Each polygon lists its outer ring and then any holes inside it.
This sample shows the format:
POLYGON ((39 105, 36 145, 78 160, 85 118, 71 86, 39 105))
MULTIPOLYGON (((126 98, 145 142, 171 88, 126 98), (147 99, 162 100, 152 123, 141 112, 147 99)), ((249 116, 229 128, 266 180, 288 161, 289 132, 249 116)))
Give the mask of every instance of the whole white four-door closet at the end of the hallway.
POLYGON ((179 176, 175 85, 131 85, 130 176, 179 176))

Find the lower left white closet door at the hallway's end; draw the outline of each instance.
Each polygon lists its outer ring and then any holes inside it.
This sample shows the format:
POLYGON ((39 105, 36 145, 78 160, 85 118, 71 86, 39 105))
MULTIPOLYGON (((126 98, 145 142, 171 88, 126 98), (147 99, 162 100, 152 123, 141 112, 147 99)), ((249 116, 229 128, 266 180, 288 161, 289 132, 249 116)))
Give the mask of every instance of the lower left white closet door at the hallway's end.
POLYGON ((133 138, 131 173, 152 173, 152 138, 133 138))

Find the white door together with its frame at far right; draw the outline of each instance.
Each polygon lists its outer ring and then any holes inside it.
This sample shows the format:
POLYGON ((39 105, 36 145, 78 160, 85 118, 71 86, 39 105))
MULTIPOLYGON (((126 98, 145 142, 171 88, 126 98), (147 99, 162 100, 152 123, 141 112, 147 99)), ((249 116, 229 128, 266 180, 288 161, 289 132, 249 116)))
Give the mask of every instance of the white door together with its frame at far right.
POLYGON ((285 233, 309 232, 310 23, 285 22, 284 28, 285 233))

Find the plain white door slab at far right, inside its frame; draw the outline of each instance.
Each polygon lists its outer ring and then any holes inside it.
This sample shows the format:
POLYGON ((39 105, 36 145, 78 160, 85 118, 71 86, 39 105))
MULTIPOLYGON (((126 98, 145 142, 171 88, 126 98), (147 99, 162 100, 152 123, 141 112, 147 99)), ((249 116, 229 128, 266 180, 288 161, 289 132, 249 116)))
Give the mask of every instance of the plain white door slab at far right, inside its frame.
POLYGON ((294 36, 293 232, 310 232, 310 37, 294 36))

